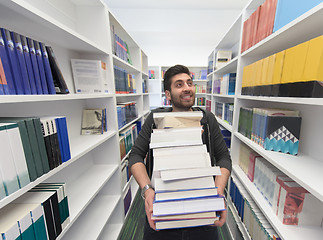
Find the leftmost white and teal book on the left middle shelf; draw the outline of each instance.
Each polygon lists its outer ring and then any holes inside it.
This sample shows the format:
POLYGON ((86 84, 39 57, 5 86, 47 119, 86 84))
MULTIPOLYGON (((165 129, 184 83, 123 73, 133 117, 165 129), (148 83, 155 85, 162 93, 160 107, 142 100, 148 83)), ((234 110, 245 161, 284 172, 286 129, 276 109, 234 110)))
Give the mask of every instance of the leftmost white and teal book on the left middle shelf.
POLYGON ((0 125, 0 152, 0 171, 6 193, 10 195, 19 189, 19 183, 6 124, 0 125))

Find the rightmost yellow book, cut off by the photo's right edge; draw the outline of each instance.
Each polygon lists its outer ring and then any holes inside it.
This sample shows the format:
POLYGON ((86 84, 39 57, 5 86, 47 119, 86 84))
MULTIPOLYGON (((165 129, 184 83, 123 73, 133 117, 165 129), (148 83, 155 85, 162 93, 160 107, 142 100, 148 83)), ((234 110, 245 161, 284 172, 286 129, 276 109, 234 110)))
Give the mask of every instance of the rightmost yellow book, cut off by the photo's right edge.
POLYGON ((309 41, 302 81, 323 81, 323 35, 309 41))

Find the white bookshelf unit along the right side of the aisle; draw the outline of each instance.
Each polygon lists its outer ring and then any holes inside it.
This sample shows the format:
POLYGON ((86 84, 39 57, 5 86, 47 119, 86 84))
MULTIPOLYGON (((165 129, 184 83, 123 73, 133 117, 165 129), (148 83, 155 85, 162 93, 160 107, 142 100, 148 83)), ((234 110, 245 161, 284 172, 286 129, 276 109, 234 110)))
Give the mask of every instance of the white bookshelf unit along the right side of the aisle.
MULTIPOLYGON (((323 117, 322 99, 241 95, 244 66, 323 34, 322 27, 318 24, 323 20, 323 3, 320 3, 316 7, 305 12, 292 22, 241 53, 243 23, 262 3, 264 3, 263 0, 251 0, 208 56, 208 62, 213 61, 211 72, 208 73, 208 79, 213 81, 216 77, 223 74, 230 72, 237 73, 235 95, 226 96, 213 93, 210 94, 210 98, 212 98, 211 110, 212 112, 215 111, 215 102, 218 101, 229 101, 234 103, 232 126, 228 125, 227 122, 222 119, 217 118, 220 125, 232 132, 232 175, 239 179, 261 212, 266 216, 266 219, 270 222, 272 228, 282 239, 296 239, 301 236, 306 236, 311 239, 320 239, 323 233, 323 230, 320 227, 283 225, 275 214, 273 214, 272 209, 261 193, 238 165, 240 145, 245 144, 304 187, 318 200, 321 202, 323 201, 323 185, 320 180, 323 171, 323 161, 321 158, 323 152, 322 148, 319 147, 322 135, 322 131, 320 130, 320 122, 323 117), (232 60, 226 65, 219 69, 214 69, 215 54, 218 50, 231 50, 233 56, 232 60), (299 154, 297 156, 291 156, 264 150, 262 147, 240 134, 238 132, 238 123, 239 110, 241 107, 267 107, 299 110, 302 117, 299 154)), ((242 230, 243 235, 244 232, 245 230, 242 230)))

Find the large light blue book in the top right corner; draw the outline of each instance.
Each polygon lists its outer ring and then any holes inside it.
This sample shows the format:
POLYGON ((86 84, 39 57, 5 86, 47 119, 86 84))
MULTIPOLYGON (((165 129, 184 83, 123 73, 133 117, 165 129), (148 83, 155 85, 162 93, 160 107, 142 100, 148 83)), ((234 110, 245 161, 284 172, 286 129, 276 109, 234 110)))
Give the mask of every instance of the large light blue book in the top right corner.
POLYGON ((273 32, 276 32, 320 3, 322 3, 322 0, 278 0, 273 32))

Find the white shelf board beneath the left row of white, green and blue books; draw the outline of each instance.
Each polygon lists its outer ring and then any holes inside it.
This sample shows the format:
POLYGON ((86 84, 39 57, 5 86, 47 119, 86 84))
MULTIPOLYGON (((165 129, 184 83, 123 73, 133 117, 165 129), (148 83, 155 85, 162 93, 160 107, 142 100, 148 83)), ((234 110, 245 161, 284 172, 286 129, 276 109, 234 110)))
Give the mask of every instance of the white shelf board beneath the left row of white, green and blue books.
POLYGON ((92 135, 92 136, 80 136, 74 141, 70 141, 71 148, 71 159, 67 162, 62 163, 58 167, 52 169, 48 173, 40 176, 35 181, 29 183, 27 186, 19 189, 18 191, 10 194, 0 201, 0 209, 14 201, 18 197, 22 196, 24 193, 37 186, 39 183, 44 182, 46 179, 60 172, 62 169, 66 168, 73 162, 77 161, 80 157, 90 152, 92 149, 99 146, 101 143, 107 141, 109 138, 116 134, 114 131, 107 132, 103 135, 92 135))

